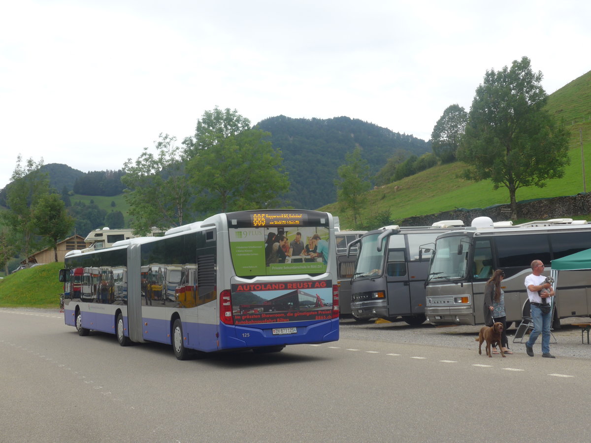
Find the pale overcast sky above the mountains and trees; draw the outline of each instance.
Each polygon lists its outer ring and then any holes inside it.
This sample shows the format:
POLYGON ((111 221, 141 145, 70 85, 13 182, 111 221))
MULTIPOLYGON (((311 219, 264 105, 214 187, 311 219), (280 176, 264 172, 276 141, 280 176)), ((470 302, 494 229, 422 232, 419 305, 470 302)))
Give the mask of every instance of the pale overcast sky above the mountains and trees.
POLYGON ((591 70, 590 1, 0 0, 0 188, 17 155, 117 170, 203 112, 358 118, 428 140, 486 70, 591 70))

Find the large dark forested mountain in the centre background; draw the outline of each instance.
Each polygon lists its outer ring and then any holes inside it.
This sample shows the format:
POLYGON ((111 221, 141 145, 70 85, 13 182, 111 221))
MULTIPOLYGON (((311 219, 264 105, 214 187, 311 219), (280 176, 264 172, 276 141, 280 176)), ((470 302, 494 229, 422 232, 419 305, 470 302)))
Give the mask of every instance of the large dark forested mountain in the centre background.
POLYGON ((372 175, 397 152, 420 156, 431 150, 428 142, 412 135, 349 117, 294 119, 280 115, 262 120, 256 127, 270 132, 273 147, 281 149, 291 182, 285 204, 300 209, 316 209, 336 201, 337 169, 356 146, 362 149, 372 175))

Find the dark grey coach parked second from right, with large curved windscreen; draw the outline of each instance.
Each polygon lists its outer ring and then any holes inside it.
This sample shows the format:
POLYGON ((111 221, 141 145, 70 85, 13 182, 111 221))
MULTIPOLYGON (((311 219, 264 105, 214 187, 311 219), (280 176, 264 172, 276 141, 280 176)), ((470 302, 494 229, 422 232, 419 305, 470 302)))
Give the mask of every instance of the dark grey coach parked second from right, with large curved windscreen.
MULTIPOLYGON (((425 288, 429 250, 420 246, 452 229, 461 220, 446 220, 425 227, 387 226, 369 231, 349 243, 359 245, 351 291, 351 311, 358 321, 402 317, 410 325, 425 321, 425 288)), ((342 302, 342 301, 341 301, 342 302)))

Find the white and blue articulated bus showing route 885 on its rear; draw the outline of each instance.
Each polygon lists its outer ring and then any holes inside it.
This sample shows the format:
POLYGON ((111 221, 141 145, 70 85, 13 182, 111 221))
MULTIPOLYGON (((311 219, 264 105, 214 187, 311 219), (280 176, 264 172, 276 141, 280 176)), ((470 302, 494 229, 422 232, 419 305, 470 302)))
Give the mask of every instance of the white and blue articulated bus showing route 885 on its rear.
POLYGON ((339 339, 339 294, 331 214, 253 210, 217 214, 163 237, 122 240, 66 255, 65 322, 80 335, 115 334, 119 344, 171 344, 184 360, 226 350, 281 351, 339 339), (314 237, 314 259, 265 255, 269 237, 314 237), (269 234, 275 234, 274 236, 269 234), (320 252, 323 252, 321 255, 320 252))

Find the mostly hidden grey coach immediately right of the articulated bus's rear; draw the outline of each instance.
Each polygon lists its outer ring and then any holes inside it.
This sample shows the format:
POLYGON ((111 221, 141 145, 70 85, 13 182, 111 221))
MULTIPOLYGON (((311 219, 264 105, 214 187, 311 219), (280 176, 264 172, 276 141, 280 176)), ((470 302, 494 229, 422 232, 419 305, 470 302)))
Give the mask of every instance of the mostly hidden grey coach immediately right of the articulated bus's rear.
POLYGON ((341 317, 351 316, 351 279, 355 272, 358 246, 353 245, 347 254, 347 245, 354 242, 367 231, 340 231, 335 233, 336 265, 339 281, 339 307, 341 317))

